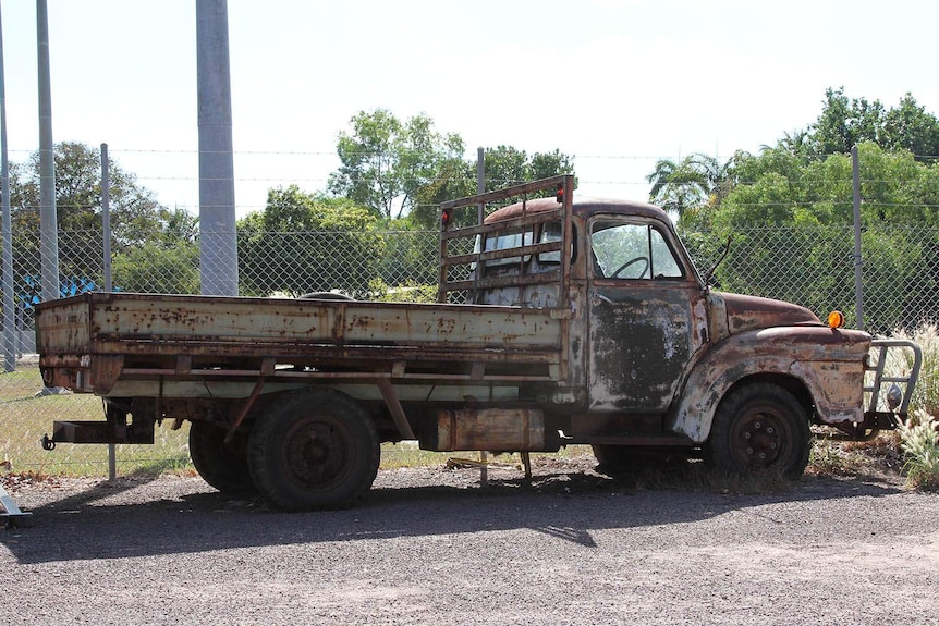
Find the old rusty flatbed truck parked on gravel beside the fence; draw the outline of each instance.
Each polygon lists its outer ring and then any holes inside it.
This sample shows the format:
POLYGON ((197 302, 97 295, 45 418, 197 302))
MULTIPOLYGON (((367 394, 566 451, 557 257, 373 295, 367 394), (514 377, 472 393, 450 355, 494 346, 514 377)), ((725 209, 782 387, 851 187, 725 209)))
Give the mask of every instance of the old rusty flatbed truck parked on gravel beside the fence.
POLYGON ((798 477, 813 422, 863 437, 905 415, 917 372, 883 364, 891 349, 918 359, 915 344, 715 291, 662 209, 573 186, 563 175, 441 205, 436 303, 41 303, 44 383, 105 407, 57 421, 44 445, 153 443, 157 425, 188 422, 209 484, 310 510, 363 495, 385 442, 525 458, 588 444, 602 468, 668 451, 798 477))

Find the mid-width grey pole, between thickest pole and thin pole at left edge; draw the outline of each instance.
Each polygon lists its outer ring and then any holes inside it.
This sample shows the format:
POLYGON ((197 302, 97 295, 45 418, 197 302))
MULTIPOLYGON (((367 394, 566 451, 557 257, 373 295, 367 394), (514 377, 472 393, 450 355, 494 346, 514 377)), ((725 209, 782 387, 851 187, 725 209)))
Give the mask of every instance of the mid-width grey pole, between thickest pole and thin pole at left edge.
POLYGON ((59 231, 56 216, 56 157, 52 145, 52 88, 49 71, 49 17, 46 0, 36 0, 39 53, 39 228, 42 299, 59 297, 59 231))

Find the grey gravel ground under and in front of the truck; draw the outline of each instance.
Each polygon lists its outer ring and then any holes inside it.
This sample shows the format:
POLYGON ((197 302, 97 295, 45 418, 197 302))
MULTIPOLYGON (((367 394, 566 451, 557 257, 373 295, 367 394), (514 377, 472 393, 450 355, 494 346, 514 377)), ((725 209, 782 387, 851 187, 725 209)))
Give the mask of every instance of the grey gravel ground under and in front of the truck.
POLYGON ((198 478, 11 481, 12 624, 939 625, 939 495, 635 489, 592 459, 379 472, 284 514, 198 478))

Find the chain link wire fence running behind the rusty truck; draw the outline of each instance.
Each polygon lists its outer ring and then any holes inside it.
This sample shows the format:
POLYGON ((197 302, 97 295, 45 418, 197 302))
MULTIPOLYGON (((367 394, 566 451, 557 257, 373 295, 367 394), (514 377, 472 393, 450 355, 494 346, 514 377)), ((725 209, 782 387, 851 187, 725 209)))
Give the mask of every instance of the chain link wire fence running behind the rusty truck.
MULTIPOLYGON (((682 237, 700 272, 717 263, 727 240, 707 232, 682 237)), ((101 419, 101 400, 44 395, 33 336, 41 294, 39 237, 23 238, 13 258, 16 333, 14 371, 0 376, 0 463, 14 471, 107 474, 107 447, 38 441, 62 419, 101 419), (28 245, 27 245, 28 244, 28 245)), ((100 232, 59 234, 60 295, 102 289, 100 232)), ((863 243, 865 328, 879 334, 912 329, 939 315, 939 230, 885 225, 863 243)), ((355 298, 434 302, 439 250, 436 232, 240 232, 239 287, 245 296, 296 297, 338 291, 355 298)), ((112 244, 114 291, 196 294, 199 242, 112 244)), ((714 271, 717 289, 802 304, 819 316, 838 308, 855 319, 854 234, 851 228, 749 228, 734 233, 714 271)), ((9 299, 9 294, 8 294, 9 299)), ((8 335, 4 335, 8 336, 8 335)), ((164 425, 153 446, 118 446, 120 474, 188 467, 186 430, 164 425)))

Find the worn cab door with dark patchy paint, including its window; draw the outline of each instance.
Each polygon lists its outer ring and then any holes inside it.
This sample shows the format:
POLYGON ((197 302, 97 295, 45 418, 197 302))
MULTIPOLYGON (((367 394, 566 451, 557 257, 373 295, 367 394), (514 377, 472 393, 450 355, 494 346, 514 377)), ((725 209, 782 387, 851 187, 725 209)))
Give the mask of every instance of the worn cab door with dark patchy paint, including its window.
POLYGON ((592 410, 663 414, 707 337, 703 289, 655 220, 590 222, 592 410))

